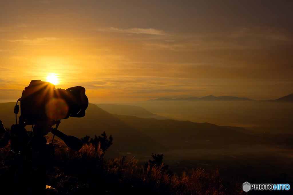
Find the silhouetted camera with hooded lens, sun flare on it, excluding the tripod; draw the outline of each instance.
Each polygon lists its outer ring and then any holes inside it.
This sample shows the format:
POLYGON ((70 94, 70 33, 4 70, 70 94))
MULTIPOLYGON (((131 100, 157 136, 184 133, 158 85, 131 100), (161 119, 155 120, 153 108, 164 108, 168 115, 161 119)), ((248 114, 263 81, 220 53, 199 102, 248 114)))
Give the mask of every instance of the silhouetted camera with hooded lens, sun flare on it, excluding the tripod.
POLYGON ((88 107, 85 88, 55 89, 55 85, 33 80, 22 92, 19 123, 25 125, 46 124, 52 126, 57 120, 83 117, 88 107))

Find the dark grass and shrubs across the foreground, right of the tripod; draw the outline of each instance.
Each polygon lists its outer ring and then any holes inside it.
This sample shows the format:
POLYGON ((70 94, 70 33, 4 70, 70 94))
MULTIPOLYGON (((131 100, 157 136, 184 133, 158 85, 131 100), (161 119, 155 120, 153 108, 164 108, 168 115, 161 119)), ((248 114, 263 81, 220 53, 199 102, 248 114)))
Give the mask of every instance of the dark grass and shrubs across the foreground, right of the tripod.
MULTIPOLYGON (((51 140, 47 137, 48 142, 51 140)), ((163 155, 152 155, 145 166, 135 158, 119 156, 105 159, 104 153, 112 138, 82 139, 78 152, 63 141, 54 140, 55 160, 48 172, 48 185, 59 194, 242 194, 240 182, 223 183, 219 171, 206 172, 197 168, 181 174, 168 171, 162 163, 163 155)), ((10 146, 1 148, 1 172, 8 165, 10 146)))

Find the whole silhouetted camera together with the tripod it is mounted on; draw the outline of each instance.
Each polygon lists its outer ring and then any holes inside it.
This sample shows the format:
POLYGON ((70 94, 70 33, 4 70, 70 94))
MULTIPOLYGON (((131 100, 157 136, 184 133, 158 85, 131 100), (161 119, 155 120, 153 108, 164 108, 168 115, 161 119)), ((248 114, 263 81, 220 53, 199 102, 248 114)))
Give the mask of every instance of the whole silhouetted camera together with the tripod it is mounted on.
MULTIPOLYGON (((84 117, 88 107, 86 89, 75 86, 68 89, 55 89, 49 82, 33 80, 24 88, 21 98, 16 102, 14 114, 16 124, 11 126, 10 133, 0 120, 0 147, 7 146, 10 140, 10 154, 14 158, 11 167, 0 175, 6 181, 4 192, 9 194, 56 194, 57 190, 46 185, 47 169, 53 163, 54 137, 57 136, 72 150, 80 150, 82 141, 74 136, 66 135, 57 128, 61 119, 84 117), (18 101, 21 102, 21 115, 18 101), (52 127, 56 124, 55 128, 52 127), (32 125, 30 136, 25 129, 32 125), (53 134, 50 143, 44 137, 53 134), (10 179, 7 179, 10 178, 10 179)), ((2 182, 3 183, 3 182, 2 182)), ((0 189, 0 193, 2 188, 0 189)), ((6 193, 6 194, 8 194, 6 193)))

